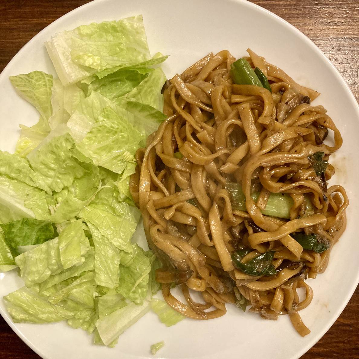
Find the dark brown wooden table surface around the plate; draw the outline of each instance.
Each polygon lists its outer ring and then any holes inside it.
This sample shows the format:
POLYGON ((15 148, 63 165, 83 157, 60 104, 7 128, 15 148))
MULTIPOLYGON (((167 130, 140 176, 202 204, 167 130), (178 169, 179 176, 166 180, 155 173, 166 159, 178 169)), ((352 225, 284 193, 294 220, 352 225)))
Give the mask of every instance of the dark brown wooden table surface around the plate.
MULTIPOLYGON (((40 30, 70 10, 88 2, 0 0, 0 72, 40 30)), ((252 2, 279 15, 308 36, 333 62, 359 101, 358 0, 252 2)), ((338 320, 302 359, 359 358, 358 314, 359 287, 338 320)), ((19 339, 0 316, 0 359, 23 358, 40 357, 19 339)))

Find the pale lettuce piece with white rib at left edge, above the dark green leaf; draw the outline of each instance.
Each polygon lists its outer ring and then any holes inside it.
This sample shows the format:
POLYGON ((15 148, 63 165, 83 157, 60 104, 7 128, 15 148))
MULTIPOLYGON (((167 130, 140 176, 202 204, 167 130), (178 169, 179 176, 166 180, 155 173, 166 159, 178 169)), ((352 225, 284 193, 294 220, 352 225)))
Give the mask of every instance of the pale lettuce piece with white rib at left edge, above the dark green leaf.
POLYGON ((0 223, 23 218, 47 219, 51 200, 39 188, 0 176, 0 223))

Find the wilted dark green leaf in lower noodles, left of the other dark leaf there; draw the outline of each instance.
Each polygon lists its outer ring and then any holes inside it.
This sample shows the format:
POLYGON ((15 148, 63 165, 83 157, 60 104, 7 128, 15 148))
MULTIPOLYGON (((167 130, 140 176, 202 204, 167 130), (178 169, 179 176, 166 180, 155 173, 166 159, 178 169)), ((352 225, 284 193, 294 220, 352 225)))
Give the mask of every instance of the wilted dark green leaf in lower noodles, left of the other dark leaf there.
POLYGON ((233 264, 243 273, 253 276, 274 275, 276 270, 272 265, 274 251, 265 252, 250 261, 243 263, 242 258, 250 253, 250 249, 238 250, 232 253, 233 264))

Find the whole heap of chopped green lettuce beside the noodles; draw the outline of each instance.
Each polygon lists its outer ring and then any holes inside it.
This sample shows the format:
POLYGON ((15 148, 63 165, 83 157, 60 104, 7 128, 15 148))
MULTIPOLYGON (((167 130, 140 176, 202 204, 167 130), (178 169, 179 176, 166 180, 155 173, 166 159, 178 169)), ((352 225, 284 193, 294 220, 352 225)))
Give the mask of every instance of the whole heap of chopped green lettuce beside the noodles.
POLYGON ((167 56, 150 57, 141 16, 46 47, 58 78, 10 78, 39 121, 20 125, 16 154, 0 151, 0 271, 18 267, 25 283, 5 305, 14 322, 66 320, 113 347, 160 288, 160 262, 131 242, 140 211, 129 181, 136 150, 166 118, 165 76, 152 66, 167 56))

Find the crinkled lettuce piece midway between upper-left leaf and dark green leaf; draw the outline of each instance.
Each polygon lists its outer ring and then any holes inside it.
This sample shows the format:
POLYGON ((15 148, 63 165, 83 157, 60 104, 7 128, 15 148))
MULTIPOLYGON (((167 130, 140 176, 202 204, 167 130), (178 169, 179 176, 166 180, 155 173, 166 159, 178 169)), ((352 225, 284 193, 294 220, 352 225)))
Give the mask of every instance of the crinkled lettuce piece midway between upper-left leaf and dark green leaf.
POLYGON ((32 168, 40 173, 46 186, 55 192, 71 186, 85 169, 71 157, 74 140, 69 133, 57 136, 28 155, 32 168))

